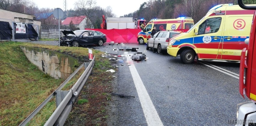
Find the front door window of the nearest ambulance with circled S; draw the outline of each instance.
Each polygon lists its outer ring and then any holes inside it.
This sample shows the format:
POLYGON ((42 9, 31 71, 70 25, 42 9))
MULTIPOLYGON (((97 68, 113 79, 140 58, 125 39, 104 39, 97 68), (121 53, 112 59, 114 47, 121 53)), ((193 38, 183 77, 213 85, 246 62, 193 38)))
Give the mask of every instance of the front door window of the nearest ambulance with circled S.
POLYGON ((221 17, 206 19, 198 28, 198 35, 218 32, 221 25, 221 17))

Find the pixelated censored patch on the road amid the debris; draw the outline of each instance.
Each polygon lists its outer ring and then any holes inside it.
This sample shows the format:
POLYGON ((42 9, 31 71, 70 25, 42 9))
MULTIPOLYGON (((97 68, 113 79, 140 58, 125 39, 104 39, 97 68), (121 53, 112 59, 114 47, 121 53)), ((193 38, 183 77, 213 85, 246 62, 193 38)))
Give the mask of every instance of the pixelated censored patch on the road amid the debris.
POLYGON ((109 43, 109 46, 113 48, 113 51, 111 51, 111 53, 121 54, 120 57, 122 57, 122 60, 126 63, 138 63, 145 62, 148 60, 144 53, 138 52, 138 45, 138 43, 109 43))

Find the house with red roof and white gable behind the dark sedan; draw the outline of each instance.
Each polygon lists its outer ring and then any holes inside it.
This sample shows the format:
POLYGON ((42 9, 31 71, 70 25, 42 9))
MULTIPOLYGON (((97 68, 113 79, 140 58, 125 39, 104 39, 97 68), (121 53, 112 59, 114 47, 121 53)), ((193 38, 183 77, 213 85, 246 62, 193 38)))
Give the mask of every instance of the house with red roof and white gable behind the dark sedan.
MULTIPOLYGON (((69 26, 69 23, 72 21, 75 27, 79 28, 80 30, 84 30, 84 28, 87 28, 87 21, 86 16, 73 16, 73 17, 67 17, 63 22, 62 25, 69 26)), ((90 20, 89 20, 90 22, 90 20)), ((93 29, 93 28, 91 28, 93 29)))

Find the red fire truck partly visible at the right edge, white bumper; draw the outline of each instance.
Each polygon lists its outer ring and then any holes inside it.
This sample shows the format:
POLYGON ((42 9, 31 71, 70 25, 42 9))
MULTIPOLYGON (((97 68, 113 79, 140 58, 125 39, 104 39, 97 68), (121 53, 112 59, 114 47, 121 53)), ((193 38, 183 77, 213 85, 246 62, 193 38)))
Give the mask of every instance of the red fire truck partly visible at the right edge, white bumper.
MULTIPOLYGON (((256 10, 256 5, 244 5, 242 0, 238 0, 241 8, 246 10, 256 10)), ((244 48, 241 53, 239 92, 244 98, 246 95, 251 102, 238 104, 237 126, 256 125, 256 12, 254 12, 251 33, 249 37, 248 49, 244 48), (247 51, 246 51, 247 50, 247 51), (247 53, 246 53, 247 52, 247 53), (244 80, 245 75, 245 80, 244 80)))

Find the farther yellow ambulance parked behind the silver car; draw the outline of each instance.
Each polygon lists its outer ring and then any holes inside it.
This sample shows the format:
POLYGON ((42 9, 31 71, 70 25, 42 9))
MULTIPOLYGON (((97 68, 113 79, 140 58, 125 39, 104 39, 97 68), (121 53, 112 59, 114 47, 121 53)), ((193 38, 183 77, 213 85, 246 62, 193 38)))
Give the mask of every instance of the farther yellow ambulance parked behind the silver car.
POLYGON ((151 31, 156 27, 156 31, 176 30, 187 32, 194 25, 194 20, 191 17, 179 17, 177 19, 151 19, 147 26, 138 33, 137 41, 139 44, 145 44, 151 38, 151 31))

